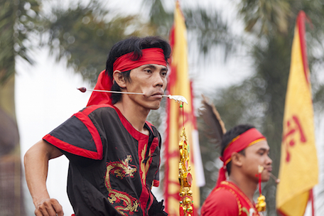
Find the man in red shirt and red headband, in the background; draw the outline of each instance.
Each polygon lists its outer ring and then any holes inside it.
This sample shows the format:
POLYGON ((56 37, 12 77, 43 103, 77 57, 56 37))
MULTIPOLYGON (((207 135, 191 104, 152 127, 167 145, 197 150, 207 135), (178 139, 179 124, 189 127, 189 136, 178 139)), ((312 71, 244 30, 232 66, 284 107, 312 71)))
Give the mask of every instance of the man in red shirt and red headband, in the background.
POLYGON ((220 159, 224 164, 216 187, 202 205, 201 215, 261 215, 253 195, 259 180, 268 181, 272 171, 266 138, 254 126, 235 126, 222 139, 220 159))

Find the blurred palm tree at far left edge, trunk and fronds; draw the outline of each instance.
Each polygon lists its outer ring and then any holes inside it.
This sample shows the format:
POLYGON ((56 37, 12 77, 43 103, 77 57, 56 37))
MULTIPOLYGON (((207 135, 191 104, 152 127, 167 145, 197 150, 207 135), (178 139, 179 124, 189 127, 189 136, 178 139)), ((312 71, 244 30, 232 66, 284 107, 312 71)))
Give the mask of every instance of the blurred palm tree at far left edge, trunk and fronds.
POLYGON ((38 1, 0 1, 0 215, 26 215, 16 124, 15 58, 33 63, 26 53, 38 23, 38 1))

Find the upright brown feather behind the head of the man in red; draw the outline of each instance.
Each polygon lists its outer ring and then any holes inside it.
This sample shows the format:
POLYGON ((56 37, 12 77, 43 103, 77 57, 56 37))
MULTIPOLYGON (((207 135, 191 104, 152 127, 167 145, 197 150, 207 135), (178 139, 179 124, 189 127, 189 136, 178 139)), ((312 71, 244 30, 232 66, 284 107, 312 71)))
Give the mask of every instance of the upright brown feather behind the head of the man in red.
POLYGON ((202 95, 202 109, 200 109, 200 117, 204 119, 206 124, 206 135, 211 139, 212 143, 220 146, 222 137, 226 133, 225 124, 220 118, 214 104, 209 102, 209 99, 202 95))

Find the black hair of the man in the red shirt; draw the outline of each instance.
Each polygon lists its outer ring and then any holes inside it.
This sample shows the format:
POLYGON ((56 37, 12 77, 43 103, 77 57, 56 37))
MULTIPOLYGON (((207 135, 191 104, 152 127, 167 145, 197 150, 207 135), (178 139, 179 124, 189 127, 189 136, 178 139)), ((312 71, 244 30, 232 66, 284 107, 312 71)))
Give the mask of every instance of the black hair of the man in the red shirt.
MULTIPOLYGON (((239 136, 240 134, 243 134, 245 131, 255 128, 255 126, 252 126, 250 124, 239 124, 237 126, 234 126, 232 129, 230 129, 229 131, 226 132, 226 134, 224 134, 223 139, 222 139, 222 156, 224 154, 225 148, 228 146, 228 144, 237 136, 239 136)), ((245 155, 245 149, 243 149, 242 151, 239 151, 239 153, 242 153, 243 155, 245 155)), ((229 161, 229 163, 227 163, 226 168, 227 168, 227 173, 228 175, 230 175, 231 173, 231 165, 232 162, 229 161)))

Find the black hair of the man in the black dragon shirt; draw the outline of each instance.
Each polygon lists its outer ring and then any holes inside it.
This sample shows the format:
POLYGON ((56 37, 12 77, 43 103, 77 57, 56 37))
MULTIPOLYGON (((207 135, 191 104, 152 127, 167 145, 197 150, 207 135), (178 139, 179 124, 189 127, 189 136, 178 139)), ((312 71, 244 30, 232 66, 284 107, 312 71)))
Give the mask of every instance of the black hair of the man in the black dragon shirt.
MULTIPOLYGON (((125 55, 126 53, 134 52, 132 56, 132 60, 138 60, 141 58, 142 52, 141 50, 146 48, 161 48, 163 50, 164 58, 166 63, 168 63, 168 58, 171 55, 171 46, 165 41, 163 38, 158 36, 148 36, 145 38, 131 37, 127 38, 123 41, 119 41, 118 43, 112 46, 112 49, 109 52, 107 63, 106 63, 106 74, 112 78, 113 75, 113 65, 114 61, 117 60, 121 55, 125 55)), ((129 71, 121 71, 124 79, 126 81, 130 81, 129 71)), ((117 85, 116 82, 112 85, 112 91, 121 91, 121 87, 117 85)), ((112 94, 112 104, 119 102, 121 99, 120 94, 112 94)))

